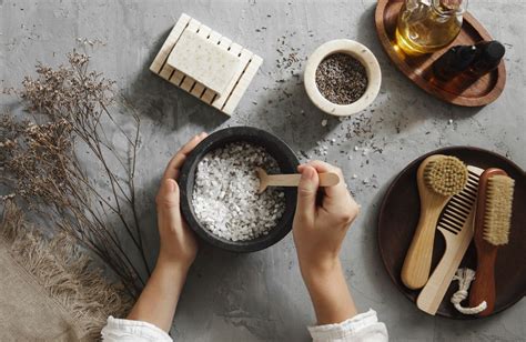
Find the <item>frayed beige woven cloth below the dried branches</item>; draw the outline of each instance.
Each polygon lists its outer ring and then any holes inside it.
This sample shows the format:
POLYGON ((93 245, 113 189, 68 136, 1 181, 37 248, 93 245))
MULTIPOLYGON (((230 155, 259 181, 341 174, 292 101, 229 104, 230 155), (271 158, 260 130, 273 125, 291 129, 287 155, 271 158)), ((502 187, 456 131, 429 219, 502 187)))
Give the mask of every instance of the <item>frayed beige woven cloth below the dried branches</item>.
POLYGON ((45 239, 11 201, 0 224, 0 341, 97 341, 131 298, 71 238, 45 239))

